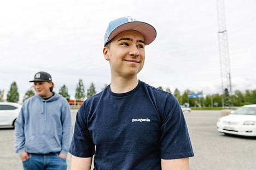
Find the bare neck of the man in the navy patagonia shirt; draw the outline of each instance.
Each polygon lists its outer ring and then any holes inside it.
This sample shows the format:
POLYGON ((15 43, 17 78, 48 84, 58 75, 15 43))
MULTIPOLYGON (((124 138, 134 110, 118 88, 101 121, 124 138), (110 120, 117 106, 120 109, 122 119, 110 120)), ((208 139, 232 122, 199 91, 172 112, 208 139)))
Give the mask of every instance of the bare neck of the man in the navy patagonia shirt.
POLYGON ((133 78, 115 77, 111 78, 110 89, 113 93, 130 92, 138 85, 137 75, 133 78))

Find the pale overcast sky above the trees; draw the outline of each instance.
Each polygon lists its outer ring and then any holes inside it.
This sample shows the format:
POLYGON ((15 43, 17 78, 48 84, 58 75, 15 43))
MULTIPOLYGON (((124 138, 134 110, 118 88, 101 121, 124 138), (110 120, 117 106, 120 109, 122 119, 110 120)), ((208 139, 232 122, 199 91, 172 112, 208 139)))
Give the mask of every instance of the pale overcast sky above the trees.
MULTIPOLYGON (((256 1, 226 0, 232 88, 256 89, 256 1)), ((100 91, 110 82, 102 55, 109 21, 132 16, 158 33, 146 47, 140 80, 183 91, 221 92, 216 0, 2 1, 0 89, 16 81, 21 98, 37 71, 47 71, 55 91, 73 96, 79 78, 100 91)))

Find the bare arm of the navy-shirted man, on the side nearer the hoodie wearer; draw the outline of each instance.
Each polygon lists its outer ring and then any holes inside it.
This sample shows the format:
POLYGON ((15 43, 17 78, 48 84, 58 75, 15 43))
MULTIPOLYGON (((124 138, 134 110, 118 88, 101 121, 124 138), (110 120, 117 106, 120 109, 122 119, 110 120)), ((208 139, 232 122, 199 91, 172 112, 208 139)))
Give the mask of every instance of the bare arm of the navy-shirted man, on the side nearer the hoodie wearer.
POLYGON ((72 155, 71 170, 90 170, 92 157, 77 157, 72 155))

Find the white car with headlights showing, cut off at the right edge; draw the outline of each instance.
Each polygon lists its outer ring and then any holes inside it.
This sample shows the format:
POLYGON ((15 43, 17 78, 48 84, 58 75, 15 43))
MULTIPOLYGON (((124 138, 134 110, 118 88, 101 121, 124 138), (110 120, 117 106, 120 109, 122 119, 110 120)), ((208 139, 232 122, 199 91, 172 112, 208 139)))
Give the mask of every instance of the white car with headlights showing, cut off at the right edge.
POLYGON ((217 130, 233 135, 256 137, 256 105, 245 105, 219 118, 217 130))

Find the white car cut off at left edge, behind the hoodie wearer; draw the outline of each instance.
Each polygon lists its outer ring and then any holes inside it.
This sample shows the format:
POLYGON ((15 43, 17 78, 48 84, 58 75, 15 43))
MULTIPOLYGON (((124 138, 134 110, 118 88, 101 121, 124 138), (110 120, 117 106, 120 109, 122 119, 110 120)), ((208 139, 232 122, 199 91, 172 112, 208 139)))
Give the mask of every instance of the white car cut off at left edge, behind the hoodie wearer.
POLYGON ((0 127, 14 127, 21 105, 13 102, 0 102, 0 127))

